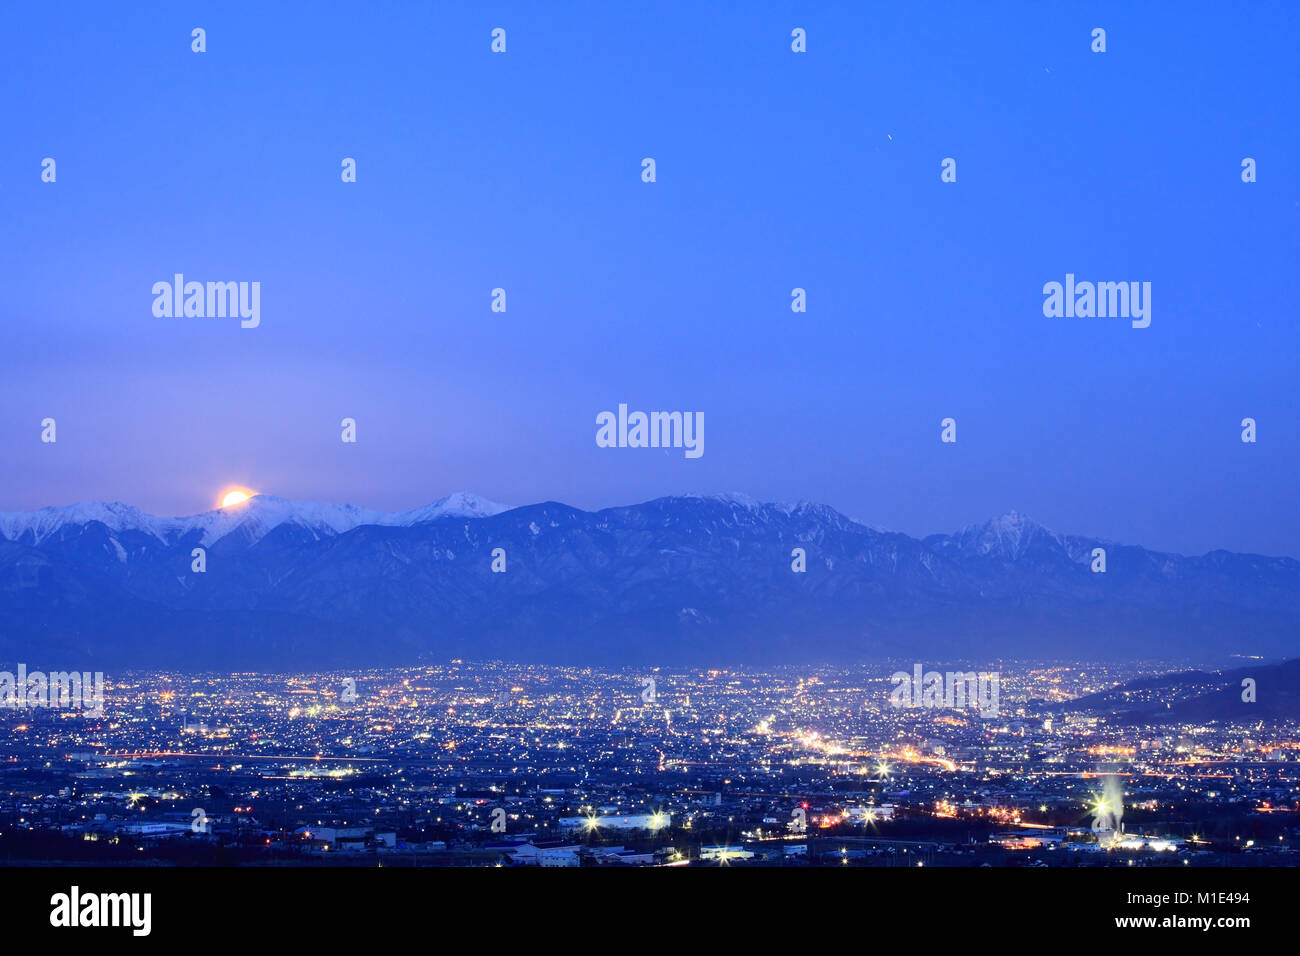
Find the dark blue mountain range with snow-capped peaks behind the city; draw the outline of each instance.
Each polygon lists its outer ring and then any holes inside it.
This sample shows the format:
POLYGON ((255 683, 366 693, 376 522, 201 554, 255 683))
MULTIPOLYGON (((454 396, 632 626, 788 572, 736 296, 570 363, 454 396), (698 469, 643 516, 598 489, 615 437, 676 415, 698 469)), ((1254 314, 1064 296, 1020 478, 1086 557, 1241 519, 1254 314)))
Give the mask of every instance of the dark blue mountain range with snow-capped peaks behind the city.
POLYGON ((0 658, 31 667, 1280 657, 1297 623, 1292 558, 1162 554, 1014 512, 923 540, 741 496, 0 514, 0 658), (1089 568, 1097 546, 1105 574, 1089 568))

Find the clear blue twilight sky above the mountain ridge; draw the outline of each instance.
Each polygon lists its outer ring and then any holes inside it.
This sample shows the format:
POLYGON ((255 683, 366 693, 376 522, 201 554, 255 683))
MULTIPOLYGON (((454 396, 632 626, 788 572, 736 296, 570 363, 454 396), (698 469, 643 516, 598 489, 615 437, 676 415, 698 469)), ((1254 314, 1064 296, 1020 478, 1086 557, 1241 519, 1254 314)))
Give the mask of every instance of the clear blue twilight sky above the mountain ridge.
POLYGON ((231 7, 6 13, 0 510, 740 490, 1300 554, 1296 4, 231 7), (153 317, 174 272, 261 326, 153 317), (1045 319, 1066 272, 1150 328, 1045 319), (705 457, 598 449, 619 402, 705 457))

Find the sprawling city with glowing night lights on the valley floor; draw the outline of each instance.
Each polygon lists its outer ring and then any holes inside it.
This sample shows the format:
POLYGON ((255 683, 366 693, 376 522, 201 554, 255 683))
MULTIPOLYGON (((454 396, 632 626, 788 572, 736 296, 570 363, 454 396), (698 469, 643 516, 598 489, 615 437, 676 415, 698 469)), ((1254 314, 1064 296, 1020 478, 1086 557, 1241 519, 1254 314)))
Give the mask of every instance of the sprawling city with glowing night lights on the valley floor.
POLYGON ((1001 667, 992 719, 890 706, 889 665, 109 675, 101 718, 4 714, 0 847, 399 866, 1294 862, 1294 722, 1122 724, 1076 701, 1169 665, 1001 667))

